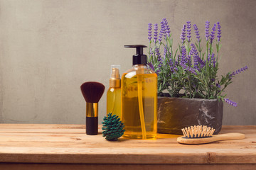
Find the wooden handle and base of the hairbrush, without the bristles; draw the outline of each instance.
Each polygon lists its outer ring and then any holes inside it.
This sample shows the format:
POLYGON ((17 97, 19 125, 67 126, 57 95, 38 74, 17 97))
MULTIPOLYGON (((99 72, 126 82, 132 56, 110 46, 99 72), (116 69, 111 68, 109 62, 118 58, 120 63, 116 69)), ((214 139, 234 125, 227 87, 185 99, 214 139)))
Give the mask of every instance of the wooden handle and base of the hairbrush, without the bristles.
POLYGON ((177 142, 182 144, 203 144, 210 143, 219 140, 242 140, 245 139, 245 135, 242 133, 225 133, 220 135, 213 135, 206 138, 183 138, 178 137, 177 142))

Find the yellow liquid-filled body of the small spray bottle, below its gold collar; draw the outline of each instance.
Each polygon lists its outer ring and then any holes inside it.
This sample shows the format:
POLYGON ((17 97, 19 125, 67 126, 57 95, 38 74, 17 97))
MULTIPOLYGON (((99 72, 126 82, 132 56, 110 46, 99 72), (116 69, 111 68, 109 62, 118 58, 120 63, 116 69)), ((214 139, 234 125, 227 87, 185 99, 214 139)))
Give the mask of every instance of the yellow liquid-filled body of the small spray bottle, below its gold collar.
POLYGON ((121 118, 121 88, 110 87, 107 91, 107 114, 118 115, 121 118))

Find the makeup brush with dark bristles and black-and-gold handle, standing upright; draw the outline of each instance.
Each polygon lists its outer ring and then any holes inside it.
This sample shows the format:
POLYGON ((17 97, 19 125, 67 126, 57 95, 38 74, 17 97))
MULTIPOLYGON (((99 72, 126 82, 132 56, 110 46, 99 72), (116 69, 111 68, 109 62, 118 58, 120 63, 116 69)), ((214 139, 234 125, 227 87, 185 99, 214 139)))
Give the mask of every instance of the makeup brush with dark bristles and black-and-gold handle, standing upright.
POLYGON ((82 96, 86 101, 86 134, 97 135, 98 132, 98 102, 102 97, 105 86, 95 81, 81 85, 82 96))

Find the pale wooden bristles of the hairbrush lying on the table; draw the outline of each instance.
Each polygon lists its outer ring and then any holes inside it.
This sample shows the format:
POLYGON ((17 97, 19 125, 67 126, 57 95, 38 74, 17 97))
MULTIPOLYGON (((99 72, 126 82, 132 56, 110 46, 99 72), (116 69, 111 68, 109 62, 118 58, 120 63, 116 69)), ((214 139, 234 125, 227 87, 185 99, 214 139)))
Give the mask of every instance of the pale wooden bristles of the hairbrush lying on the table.
POLYGON ((184 137, 195 138, 195 137, 210 137, 213 135, 215 129, 207 127, 206 125, 194 125, 188 128, 181 129, 184 137))

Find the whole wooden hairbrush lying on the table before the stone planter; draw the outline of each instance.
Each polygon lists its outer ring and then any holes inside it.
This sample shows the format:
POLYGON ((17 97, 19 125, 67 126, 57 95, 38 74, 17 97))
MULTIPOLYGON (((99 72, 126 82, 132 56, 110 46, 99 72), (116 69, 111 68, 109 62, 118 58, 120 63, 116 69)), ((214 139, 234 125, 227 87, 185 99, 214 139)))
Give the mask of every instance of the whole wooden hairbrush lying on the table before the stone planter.
POLYGON ((219 140, 242 140, 245 135, 242 133, 226 133, 213 135, 215 129, 207 126, 191 126, 181 129, 183 137, 178 137, 177 142, 181 144, 204 144, 219 140))

